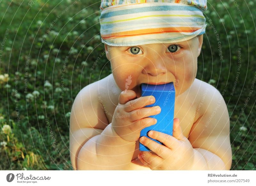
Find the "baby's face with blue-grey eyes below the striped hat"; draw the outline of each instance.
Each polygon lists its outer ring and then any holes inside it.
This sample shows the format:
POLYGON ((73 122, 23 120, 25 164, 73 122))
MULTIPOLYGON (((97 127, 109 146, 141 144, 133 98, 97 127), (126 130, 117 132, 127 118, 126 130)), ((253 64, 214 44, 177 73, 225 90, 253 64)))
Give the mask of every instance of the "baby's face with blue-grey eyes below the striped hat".
POLYGON ((200 35, 180 43, 105 48, 113 77, 121 90, 133 90, 140 97, 141 83, 174 82, 177 96, 196 78, 202 42, 203 35, 200 35))

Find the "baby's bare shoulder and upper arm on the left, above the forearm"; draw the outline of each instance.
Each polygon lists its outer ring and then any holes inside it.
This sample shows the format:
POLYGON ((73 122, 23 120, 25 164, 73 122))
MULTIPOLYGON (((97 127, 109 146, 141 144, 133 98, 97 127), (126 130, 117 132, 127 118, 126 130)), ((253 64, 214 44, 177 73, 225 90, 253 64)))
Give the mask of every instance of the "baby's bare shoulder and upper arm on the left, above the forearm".
POLYGON ((100 106, 99 92, 104 79, 84 87, 76 96, 70 115, 69 150, 73 168, 82 146, 94 136, 100 135, 108 125, 108 119, 100 106))

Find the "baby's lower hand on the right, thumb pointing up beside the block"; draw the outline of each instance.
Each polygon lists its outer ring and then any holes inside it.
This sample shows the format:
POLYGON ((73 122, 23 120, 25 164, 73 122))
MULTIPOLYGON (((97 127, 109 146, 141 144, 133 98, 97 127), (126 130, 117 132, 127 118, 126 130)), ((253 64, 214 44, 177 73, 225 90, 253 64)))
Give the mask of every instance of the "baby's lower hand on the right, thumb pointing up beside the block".
POLYGON ((151 130, 148 136, 164 143, 161 145, 148 137, 141 137, 140 143, 151 151, 143 151, 138 155, 140 161, 152 170, 190 170, 194 163, 194 149, 183 135, 179 119, 173 121, 173 136, 151 130), (141 141, 144 139, 144 142, 141 141))

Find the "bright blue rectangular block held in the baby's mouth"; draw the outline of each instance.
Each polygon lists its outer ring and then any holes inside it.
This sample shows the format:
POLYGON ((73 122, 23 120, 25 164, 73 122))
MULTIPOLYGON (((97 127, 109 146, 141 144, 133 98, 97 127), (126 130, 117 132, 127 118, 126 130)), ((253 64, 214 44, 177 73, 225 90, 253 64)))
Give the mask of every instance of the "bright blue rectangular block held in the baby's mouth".
MULTIPOLYGON (((155 130, 158 132, 163 132, 165 134, 172 136, 173 130, 173 117, 174 117, 174 101, 175 101, 175 89, 173 82, 163 84, 163 85, 148 85, 145 83, 141 84, 141 96, 154 96, 156 102, 152 105, 147 105, 145 107, 160 106, 161 112, 157 115, 149 116, 151 118, 156 118, 157 123, 151 125, 141 130, 140 137, 148 137, 148 131, 155 130)), ((148 137, 150 138, 150 137, 148 137)), ((152 138, 150 138, 152 139, 152 138)), ((152 139, 158 142, 155 139, 152 139)), ((140 143, 140 151, 150 151, 150 149, 140 143)))

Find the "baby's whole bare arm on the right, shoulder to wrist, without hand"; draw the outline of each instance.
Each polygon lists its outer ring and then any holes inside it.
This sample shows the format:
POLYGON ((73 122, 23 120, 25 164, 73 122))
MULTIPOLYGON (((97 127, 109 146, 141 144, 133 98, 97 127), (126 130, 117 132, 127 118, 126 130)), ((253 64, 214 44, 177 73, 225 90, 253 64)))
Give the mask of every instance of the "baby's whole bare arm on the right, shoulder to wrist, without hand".
POLYGON ((227 106, 217 89, 210 85, 206 86, 208 91, 200 107, 201 115, 189 135, 195 152, 192 169, 229 170, 232 152, 227 106))

